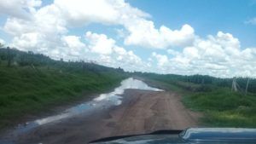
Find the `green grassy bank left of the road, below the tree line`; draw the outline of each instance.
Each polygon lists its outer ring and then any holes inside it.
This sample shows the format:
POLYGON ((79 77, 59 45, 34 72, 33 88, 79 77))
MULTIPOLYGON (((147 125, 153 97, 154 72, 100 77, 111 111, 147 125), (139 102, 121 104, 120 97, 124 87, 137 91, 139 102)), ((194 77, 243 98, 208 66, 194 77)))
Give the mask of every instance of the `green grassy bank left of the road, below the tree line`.
POLYGON ((0 64, 0 129, 15 124, 25 115, 49 111, 56 105, 113 89, 125 78, 121 72, 37 69, 0 64))

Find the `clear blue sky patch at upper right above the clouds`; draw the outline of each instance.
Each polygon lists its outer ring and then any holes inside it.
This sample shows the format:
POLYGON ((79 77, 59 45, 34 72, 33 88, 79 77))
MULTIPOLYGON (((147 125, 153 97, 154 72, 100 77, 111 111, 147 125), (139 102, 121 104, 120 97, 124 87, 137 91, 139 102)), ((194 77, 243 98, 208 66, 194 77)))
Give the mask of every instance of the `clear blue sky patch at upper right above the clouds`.
POLYGON ((151 14, 155 26, 165 25, 178 29, 183 24, 189 24, 201 37, 218 31, 230 32, 240 39, 242 47, 256 45, 256 27, 244 23, 255 17, 255 1, 129 0, 127 2, 151 14))

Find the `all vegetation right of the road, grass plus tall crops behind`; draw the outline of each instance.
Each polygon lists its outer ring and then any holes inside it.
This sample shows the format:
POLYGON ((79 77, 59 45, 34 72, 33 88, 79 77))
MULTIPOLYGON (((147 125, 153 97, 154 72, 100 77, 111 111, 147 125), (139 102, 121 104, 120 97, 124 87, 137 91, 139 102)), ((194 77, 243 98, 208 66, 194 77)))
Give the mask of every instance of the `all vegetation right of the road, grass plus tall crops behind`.
POLYGON ((160 83, 162 89, 183 95, 183 103, 193 111, 202 112, 201 124, 212 127, 256 128, 256 79, 236 78, 240 89, 231 89, 233 78, 209 76, 136 74, 149 79, 148 83, 160 83))

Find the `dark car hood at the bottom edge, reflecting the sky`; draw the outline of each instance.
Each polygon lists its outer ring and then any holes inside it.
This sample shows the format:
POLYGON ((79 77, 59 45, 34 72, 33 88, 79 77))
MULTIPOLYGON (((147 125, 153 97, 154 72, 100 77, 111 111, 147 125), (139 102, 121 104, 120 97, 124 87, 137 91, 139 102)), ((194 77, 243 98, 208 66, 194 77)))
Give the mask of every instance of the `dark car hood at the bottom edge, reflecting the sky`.
POLYGON ((255 143, 256 129, 239 128, 190 128, 183 130, 160 130, 146 135, 126 135, 105 138, 93 143, 105 144, 201 144, 201 143, 255 143))

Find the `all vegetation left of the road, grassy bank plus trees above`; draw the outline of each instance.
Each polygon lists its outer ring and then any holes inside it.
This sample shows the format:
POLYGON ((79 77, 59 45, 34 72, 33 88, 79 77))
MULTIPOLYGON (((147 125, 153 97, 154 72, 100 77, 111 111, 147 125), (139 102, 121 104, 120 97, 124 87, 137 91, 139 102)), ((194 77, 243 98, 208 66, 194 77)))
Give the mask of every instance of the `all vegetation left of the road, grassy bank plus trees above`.
POLYGON ((0 49, 0 129, 28 115, 106 92, 126 77, 120 68, 0 49))

